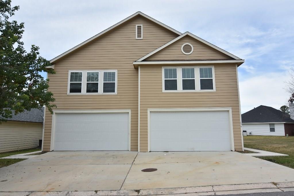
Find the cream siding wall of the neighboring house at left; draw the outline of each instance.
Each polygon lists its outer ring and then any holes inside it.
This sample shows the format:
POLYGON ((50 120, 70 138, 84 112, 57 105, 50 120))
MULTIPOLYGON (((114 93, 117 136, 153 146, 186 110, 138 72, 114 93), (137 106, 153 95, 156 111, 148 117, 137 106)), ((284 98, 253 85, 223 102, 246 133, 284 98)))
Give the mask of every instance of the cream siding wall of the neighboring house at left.
POLYGON ((0 152, 38 147, 43 124, 7 121, 0 125, 0 152))

